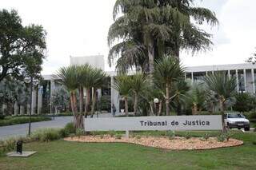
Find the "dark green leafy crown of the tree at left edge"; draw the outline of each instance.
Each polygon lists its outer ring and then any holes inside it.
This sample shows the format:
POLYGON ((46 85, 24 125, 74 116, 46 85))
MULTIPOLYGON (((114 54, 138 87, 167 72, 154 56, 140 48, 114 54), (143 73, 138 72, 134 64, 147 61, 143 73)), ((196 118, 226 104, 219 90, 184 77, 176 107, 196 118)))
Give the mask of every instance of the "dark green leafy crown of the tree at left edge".
POLYGON ((16 10, 0 10, 0 30, 0 81, 40 73, 46 51, 42 26, 22 26, 16 10))

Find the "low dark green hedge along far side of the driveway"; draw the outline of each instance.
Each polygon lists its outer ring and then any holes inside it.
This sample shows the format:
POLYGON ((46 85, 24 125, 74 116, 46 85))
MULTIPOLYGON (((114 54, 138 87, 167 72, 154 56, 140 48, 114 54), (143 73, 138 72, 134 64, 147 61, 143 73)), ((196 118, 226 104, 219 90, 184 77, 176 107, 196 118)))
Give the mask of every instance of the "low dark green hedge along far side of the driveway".
MULTIPOLYGON (((50 117, 31 117, 31 122, 50 121, 50 117)), ((5 117, 0 119, 0 126, 26 124, 30 121, 30 117, 5 117)))

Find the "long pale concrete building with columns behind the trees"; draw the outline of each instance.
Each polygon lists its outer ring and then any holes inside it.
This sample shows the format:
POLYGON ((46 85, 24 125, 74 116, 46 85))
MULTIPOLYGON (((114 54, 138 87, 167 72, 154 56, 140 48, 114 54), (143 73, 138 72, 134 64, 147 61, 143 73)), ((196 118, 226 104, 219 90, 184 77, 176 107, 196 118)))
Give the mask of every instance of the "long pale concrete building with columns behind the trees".
MULTIPOLYGON (((104 57, 99 56, 88 56, 88 57, 70 57, 70 65, 82 65, 89 63, 102 70, 104 70, 104 57)), ((194 66, 187 67, 186 74, 184 78, 193 81, 202 80, 204 76, 209 73, 214 73, 218 71, 226 71, 227 75, 230 77, 236 77, 237 80, 237 91, 247 92, 255 94, 255 75, 256 75, 256 65, 252 64, 235 64, 235 65, 206 65, 206 66, 194 66)), ((118 91, 111 86, 114 83, 114 77, 117 75, 116 72, 106 72, 109 77, 109 84, 105 89, 98 89, 97 95, 110 96, 111 105, 116 106, 117 112, 120 112, 119 104, 121 98, 119 97, 118 91)), ((132 73, 131 73, 132 74, 132 73)), ((38 95, 34 95, 34 101, 36 100, 38 104, 36 113, 53 113, 54 109, 51 106, 51 99, 53 97, 54 91, 58 89, 59 83, 52 75, 44 75, 44 83, 38 88, 38 95), (35 97, 38 97, 36 99, 35 97), (45 107, 47 108, 45 109, 45 107), (45 110, 42 110, 44 108, 45 110)), ((85 93, 86 96, 86 93, 85 93)), ((111 107, 110 107, 111 108, 111 107)))

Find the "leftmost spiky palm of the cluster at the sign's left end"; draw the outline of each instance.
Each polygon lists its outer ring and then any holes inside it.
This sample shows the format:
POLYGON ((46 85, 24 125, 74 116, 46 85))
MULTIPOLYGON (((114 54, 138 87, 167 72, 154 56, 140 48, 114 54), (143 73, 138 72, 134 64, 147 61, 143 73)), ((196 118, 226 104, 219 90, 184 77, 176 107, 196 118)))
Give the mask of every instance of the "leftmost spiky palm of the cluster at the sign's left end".
POLYGON ((79 87, 78 84, 78 66, 71 65, 58 69, 56 78, 66 86, 66 89, 70 92, 70 104, 72 113, 74 114, 75 128, 84 128, 84 122, 82 114, 78 113, 76 91, 79 87))

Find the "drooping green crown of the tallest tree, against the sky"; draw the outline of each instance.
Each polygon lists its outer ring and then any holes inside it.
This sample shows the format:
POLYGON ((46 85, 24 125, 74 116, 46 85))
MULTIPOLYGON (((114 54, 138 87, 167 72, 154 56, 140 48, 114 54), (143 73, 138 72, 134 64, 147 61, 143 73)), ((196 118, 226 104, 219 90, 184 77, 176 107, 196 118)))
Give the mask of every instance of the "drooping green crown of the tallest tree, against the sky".
POLYGON ((218 24, 215 14, 193 5, 194 0, 117 0, 110 26, 109 63, 118 58, 117 69, 142 69, 153 73, 154 61, 163 53, 179 57, 180 49, 209 49, 210 34, 200 30, 203 22, 218 24), (191 18, 195 22, 191 22, 191 18), (118 44, 114 44, 116 40, 118 44))

